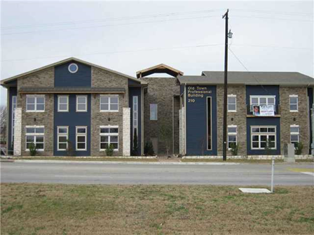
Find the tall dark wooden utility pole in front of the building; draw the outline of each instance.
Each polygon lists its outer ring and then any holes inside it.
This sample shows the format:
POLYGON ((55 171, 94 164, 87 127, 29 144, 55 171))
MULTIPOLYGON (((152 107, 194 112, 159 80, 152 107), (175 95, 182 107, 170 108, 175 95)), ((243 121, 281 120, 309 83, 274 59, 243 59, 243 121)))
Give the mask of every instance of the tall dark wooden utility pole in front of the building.
POLYGON ((222 159, 227 160, 227 84, 228 84, 228 12, 222 17, 226 20, 226 29, 225 29, 225 45, 224 45, 224 134, 222 140, 222 159))

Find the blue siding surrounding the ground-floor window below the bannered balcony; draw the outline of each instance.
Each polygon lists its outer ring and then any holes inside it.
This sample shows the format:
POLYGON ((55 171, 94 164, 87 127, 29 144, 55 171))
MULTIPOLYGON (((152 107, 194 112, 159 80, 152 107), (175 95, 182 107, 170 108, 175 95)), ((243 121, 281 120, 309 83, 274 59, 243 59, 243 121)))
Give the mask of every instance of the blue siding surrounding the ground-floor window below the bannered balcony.
POLYGON ((251 126, 275 126, 276 150, 270 150, 271 155, 280 155, 280 118, 247 118, 247 155, 266 155, 266 150, 251 149, 251 126))

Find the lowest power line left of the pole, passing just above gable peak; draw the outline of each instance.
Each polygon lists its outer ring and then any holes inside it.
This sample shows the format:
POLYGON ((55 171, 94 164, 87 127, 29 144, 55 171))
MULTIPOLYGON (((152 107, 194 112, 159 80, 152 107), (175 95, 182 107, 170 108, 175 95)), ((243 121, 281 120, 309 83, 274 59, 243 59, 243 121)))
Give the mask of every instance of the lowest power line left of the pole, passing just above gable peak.
POLYGON ((125 50, 125 51, 116 51, 116 52, 95 52, 95 53, 87 53, 87 54, 76 54, 76 55, 59 55, 52 57, 37 57, 32 59, 4 59, 1 62, 12 62, 12 61, 25 61, 25 60, 35 60, 35 59, 50 59, 50 58, 59 58, 59 57, 74 57, 74 56, 82 56, 82 55, 104 55, 104 54, 118 54, 118 53, 130 53, 130 52, 146 52, 146 51, 154 51, 154 50, 176 50, 176 49, 186 49, 186 48, 205 48, 210 46, 217 46, 224 44, 204 44, 204 45, 187 45, 181 47, 173 47, 173 48, 151 48, 151 49, 143 49, 143 50, 125 50))

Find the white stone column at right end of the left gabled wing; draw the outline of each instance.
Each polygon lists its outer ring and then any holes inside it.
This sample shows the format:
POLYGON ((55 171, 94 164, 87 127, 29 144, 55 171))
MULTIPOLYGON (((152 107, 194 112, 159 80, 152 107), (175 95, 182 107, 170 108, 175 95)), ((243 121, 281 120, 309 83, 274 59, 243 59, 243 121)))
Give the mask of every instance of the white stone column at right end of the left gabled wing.
POLYGON ((131 155, 131 108, 123 108, 123 156, 131 155))

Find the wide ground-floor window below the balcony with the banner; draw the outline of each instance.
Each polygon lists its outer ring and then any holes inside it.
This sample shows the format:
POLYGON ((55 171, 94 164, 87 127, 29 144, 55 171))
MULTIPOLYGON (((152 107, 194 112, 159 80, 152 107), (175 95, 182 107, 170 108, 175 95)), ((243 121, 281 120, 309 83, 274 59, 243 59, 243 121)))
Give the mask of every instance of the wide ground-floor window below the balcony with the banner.
POLYGON ((251 127, 251 148, 264 150, 267 145, 268 148, 276 149, 276 127, 251 127))

